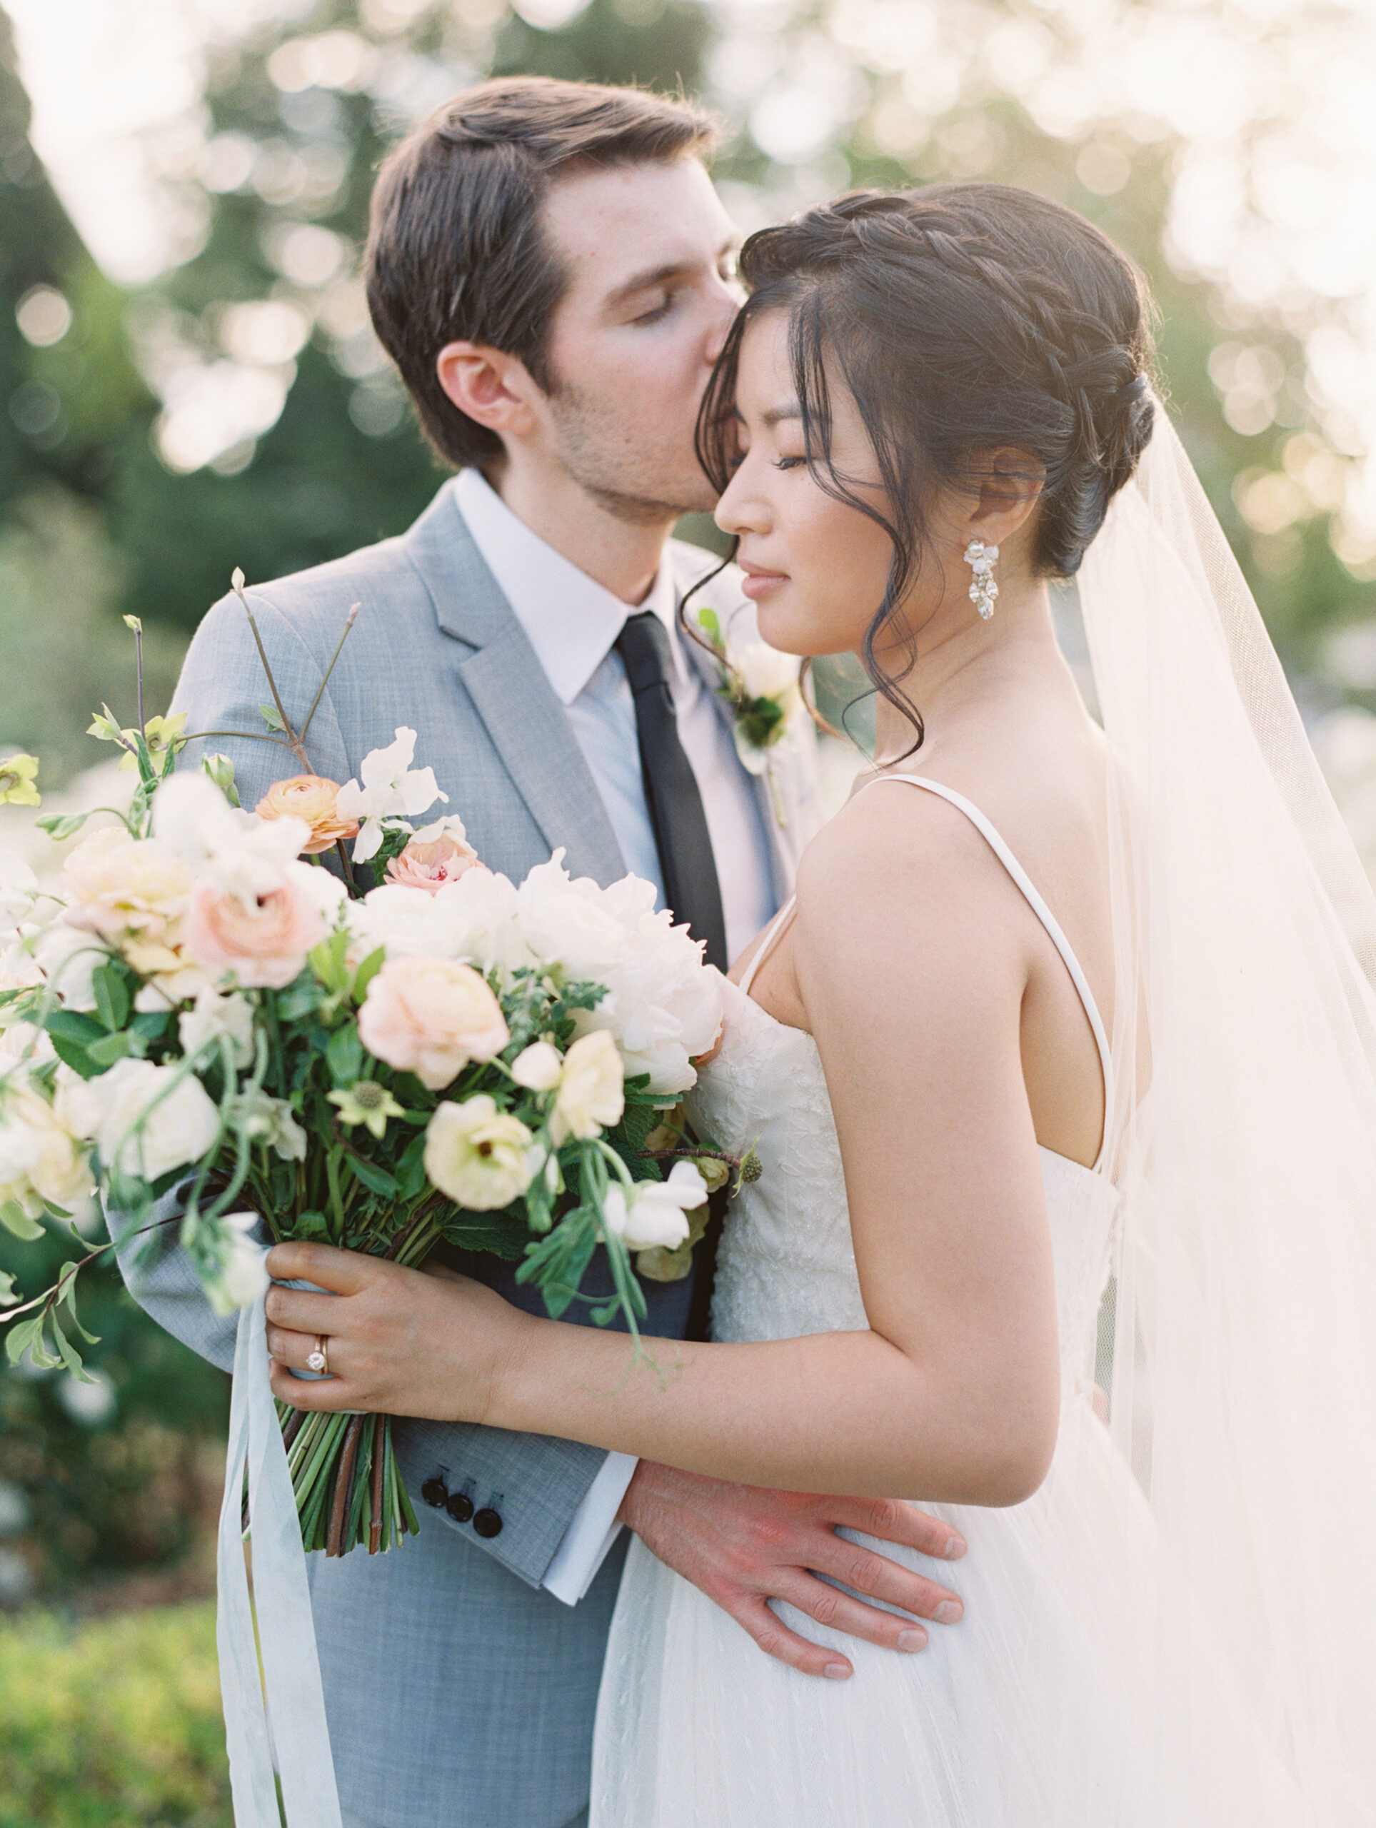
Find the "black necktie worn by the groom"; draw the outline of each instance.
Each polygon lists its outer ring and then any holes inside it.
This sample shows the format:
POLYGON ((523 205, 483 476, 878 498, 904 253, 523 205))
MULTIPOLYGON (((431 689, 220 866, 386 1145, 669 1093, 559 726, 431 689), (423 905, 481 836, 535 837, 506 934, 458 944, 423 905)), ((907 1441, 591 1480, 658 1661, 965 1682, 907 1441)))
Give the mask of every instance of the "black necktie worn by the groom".
POLYGON ((678 740, 674 695, 669 686, 672 656, 669 631, 652 609, 627 616, 616 638, 636 700, 640 771, 645 779, 654 843, 660 852, 663 894, 674 921, 685 923, 694 940, 707 941, 707 963, 727 967, 725 916, 716 859, 707 834, 707 815, 693 764, 678 740))

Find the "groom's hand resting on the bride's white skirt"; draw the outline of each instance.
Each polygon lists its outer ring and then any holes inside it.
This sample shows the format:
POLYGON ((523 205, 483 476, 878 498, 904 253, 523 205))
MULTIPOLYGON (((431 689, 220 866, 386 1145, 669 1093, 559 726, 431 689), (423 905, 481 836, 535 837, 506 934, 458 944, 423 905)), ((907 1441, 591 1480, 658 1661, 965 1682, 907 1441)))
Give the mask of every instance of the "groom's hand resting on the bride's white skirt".
POLYGON ((786 1600, 819 1625, 890 1651, 921 1651, 926 1643, 926 1631, 914 1618, 954 1625, 965 1610, 948 1589, 837 1536, 844 1526, 941 1561, 965 1554, 965 1541, 948 1523, 895 1499, 766 1492, 641 1461, 618 1517, 660 1561, 729 1612, 766 1656, 806 1676, 841 1682, 852 1665, 837 1651, 789 1631, 771 1600, 786 1600), (912 1616, 864 1605, 830 1581, 912 1616))

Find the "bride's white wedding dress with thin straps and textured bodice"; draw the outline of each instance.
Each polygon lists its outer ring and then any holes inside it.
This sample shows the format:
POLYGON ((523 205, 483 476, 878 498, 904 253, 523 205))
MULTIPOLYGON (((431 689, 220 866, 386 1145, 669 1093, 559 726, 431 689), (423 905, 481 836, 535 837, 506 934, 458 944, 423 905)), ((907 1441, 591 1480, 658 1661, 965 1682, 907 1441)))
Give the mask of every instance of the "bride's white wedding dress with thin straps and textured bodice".
MULTIPOLYGON (((961 795, 916 775, 886 781, 967 813, 1027 896, 1089 1015, 1111 1108, 1098 1009, 1016 857, 961 795)), ((746 982, 727 985, 722 1049, 691 1095, 704 1133, 731 1152, 755 1144, 764 1166, 727 1216, 718 1340, 868 1323, 817 1047, 749 996, 789 912, 746 982)), ((1040 1153, 1062 1344, 1051 1472, 1007 1510, 928 1504, 968 1541, 956 1565, 872 1545, 956 1585, 963 1621, 932 1627, 928 1649, 903 1656, 780 1607, 793 1629, 844 1649, 855 1667, 850 1682, 808 1678, 767 1660, 632 1541, 598 1704, 592 1828, 1279 1828, 1307 1819, 1224 1656, 1199 1642, 1204 1625, 1186 1587, 1168 1620, 1149 1603, 1164 1548, 1091 1402, 1117 1194, 1100 1164, 1040 1153), (1162 1667, 1173 1665, 1191 1671, 1191 1693, 1162 1733, 1155 1696, 1162 1667)), ((1296 1556, 1301 1563, 1303 1545, 1296 1556)))

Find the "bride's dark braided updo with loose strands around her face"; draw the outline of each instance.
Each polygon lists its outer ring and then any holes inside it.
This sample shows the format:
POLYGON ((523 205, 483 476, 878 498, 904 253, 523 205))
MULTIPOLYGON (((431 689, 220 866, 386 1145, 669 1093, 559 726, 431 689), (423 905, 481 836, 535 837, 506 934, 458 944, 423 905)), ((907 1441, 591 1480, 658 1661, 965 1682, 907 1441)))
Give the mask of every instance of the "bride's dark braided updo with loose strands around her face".
POLYGON ((698 457, 724 490, 742 338, 788 311, 810 470, 894 541, 863 658, 921 744, 921 717, 873 647, 890 620, 908 636, 895 611, 923 565, 934 495, 978 490, 990 452, 1027 452, 1045 475, 1032 563, 1074 576, 1151 435, 1144 282, 1084 216, 987 183, 855 192, 753 234, 740 274, 749 296, 704 399, 698 457), (831 461, 828 366, 861 411, 888 514, 831 461))

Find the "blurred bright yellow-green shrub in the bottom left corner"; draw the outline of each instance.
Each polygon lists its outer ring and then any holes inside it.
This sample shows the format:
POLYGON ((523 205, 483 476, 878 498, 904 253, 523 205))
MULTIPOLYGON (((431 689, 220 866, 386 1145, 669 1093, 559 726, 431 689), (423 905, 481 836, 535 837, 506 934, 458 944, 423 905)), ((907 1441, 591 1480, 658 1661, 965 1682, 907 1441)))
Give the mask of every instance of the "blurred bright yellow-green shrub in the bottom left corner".
POLYGON ((0 1623, 0 1828, 230 1828, 214 1607, 0 1623))

